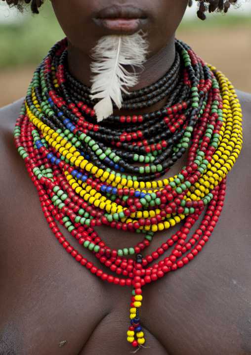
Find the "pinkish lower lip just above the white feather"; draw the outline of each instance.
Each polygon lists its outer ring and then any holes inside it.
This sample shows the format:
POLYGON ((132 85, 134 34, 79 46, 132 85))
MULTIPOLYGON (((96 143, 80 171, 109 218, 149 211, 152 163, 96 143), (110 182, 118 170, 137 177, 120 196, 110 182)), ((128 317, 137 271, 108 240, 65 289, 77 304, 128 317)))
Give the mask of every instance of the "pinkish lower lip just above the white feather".
POLYGON ((121 32, 136 31, 140 25, 139 18, 102 18, 101 21, 107 29, 121 32))

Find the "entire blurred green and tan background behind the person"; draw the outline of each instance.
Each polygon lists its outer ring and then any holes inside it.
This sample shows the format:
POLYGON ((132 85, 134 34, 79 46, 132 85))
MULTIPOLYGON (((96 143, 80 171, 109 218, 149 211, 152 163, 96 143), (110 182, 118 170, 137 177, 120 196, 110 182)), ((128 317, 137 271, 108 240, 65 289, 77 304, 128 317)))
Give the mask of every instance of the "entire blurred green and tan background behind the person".
MULTIPOLYGON (((206 62, 221 70, 236 89, 251 93, 251 1, 206 21, 188 8, 176 37, 191 45, 206 62)), ((0 1, 0 107, 26 94, 34 70, 49 48, 64 37, 50 1, 39 15, 18 13, 0 1)))

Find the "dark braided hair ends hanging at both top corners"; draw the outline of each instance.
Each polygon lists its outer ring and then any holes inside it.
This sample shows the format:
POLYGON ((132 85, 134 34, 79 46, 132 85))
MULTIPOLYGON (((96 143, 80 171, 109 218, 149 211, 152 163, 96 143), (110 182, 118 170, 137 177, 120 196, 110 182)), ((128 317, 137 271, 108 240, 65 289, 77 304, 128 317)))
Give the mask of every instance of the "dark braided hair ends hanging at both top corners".
MULTIPOLYGON (((4 1, 4 0, 2 0, 4 1)), ((239 0, 195 0, 198 1, 197 16, 201 20, 206 19, 206 12, 227 12, 231 4, 237 4, 239 0)), ((16 6, 19 11, 23 12, 26 4, 31 4, 31 10, 33 13, 39 13, 39 7, 44 0, 6 0, 9 6, 16 6)), ((192 0, 188 1, 189 6, 192 5, 192 0)))

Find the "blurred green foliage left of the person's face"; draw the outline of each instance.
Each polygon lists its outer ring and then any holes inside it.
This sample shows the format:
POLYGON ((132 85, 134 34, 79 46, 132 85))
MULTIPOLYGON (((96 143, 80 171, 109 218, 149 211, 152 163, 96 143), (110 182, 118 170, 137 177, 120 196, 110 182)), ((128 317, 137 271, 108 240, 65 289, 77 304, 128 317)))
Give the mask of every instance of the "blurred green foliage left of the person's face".
POLYGON ((49 2, 39 15, 17 16, 20 22, 0 24, 0 69, 38 64, 49 48, 65 37, 49 2))

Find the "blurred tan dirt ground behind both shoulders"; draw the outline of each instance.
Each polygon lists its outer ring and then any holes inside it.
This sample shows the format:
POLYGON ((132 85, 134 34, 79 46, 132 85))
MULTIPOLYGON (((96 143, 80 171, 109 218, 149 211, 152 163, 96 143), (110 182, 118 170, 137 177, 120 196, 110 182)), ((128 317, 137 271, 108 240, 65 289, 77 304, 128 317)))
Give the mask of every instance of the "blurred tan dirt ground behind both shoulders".
MULTIPOLYGON (((251 28, 178 30, 177 38, 191 45, 206 62, 221 70, 236 89, 251 93, 251 28)), ((36 67, 0 71, 0 107, 25 96, 36 67)))

